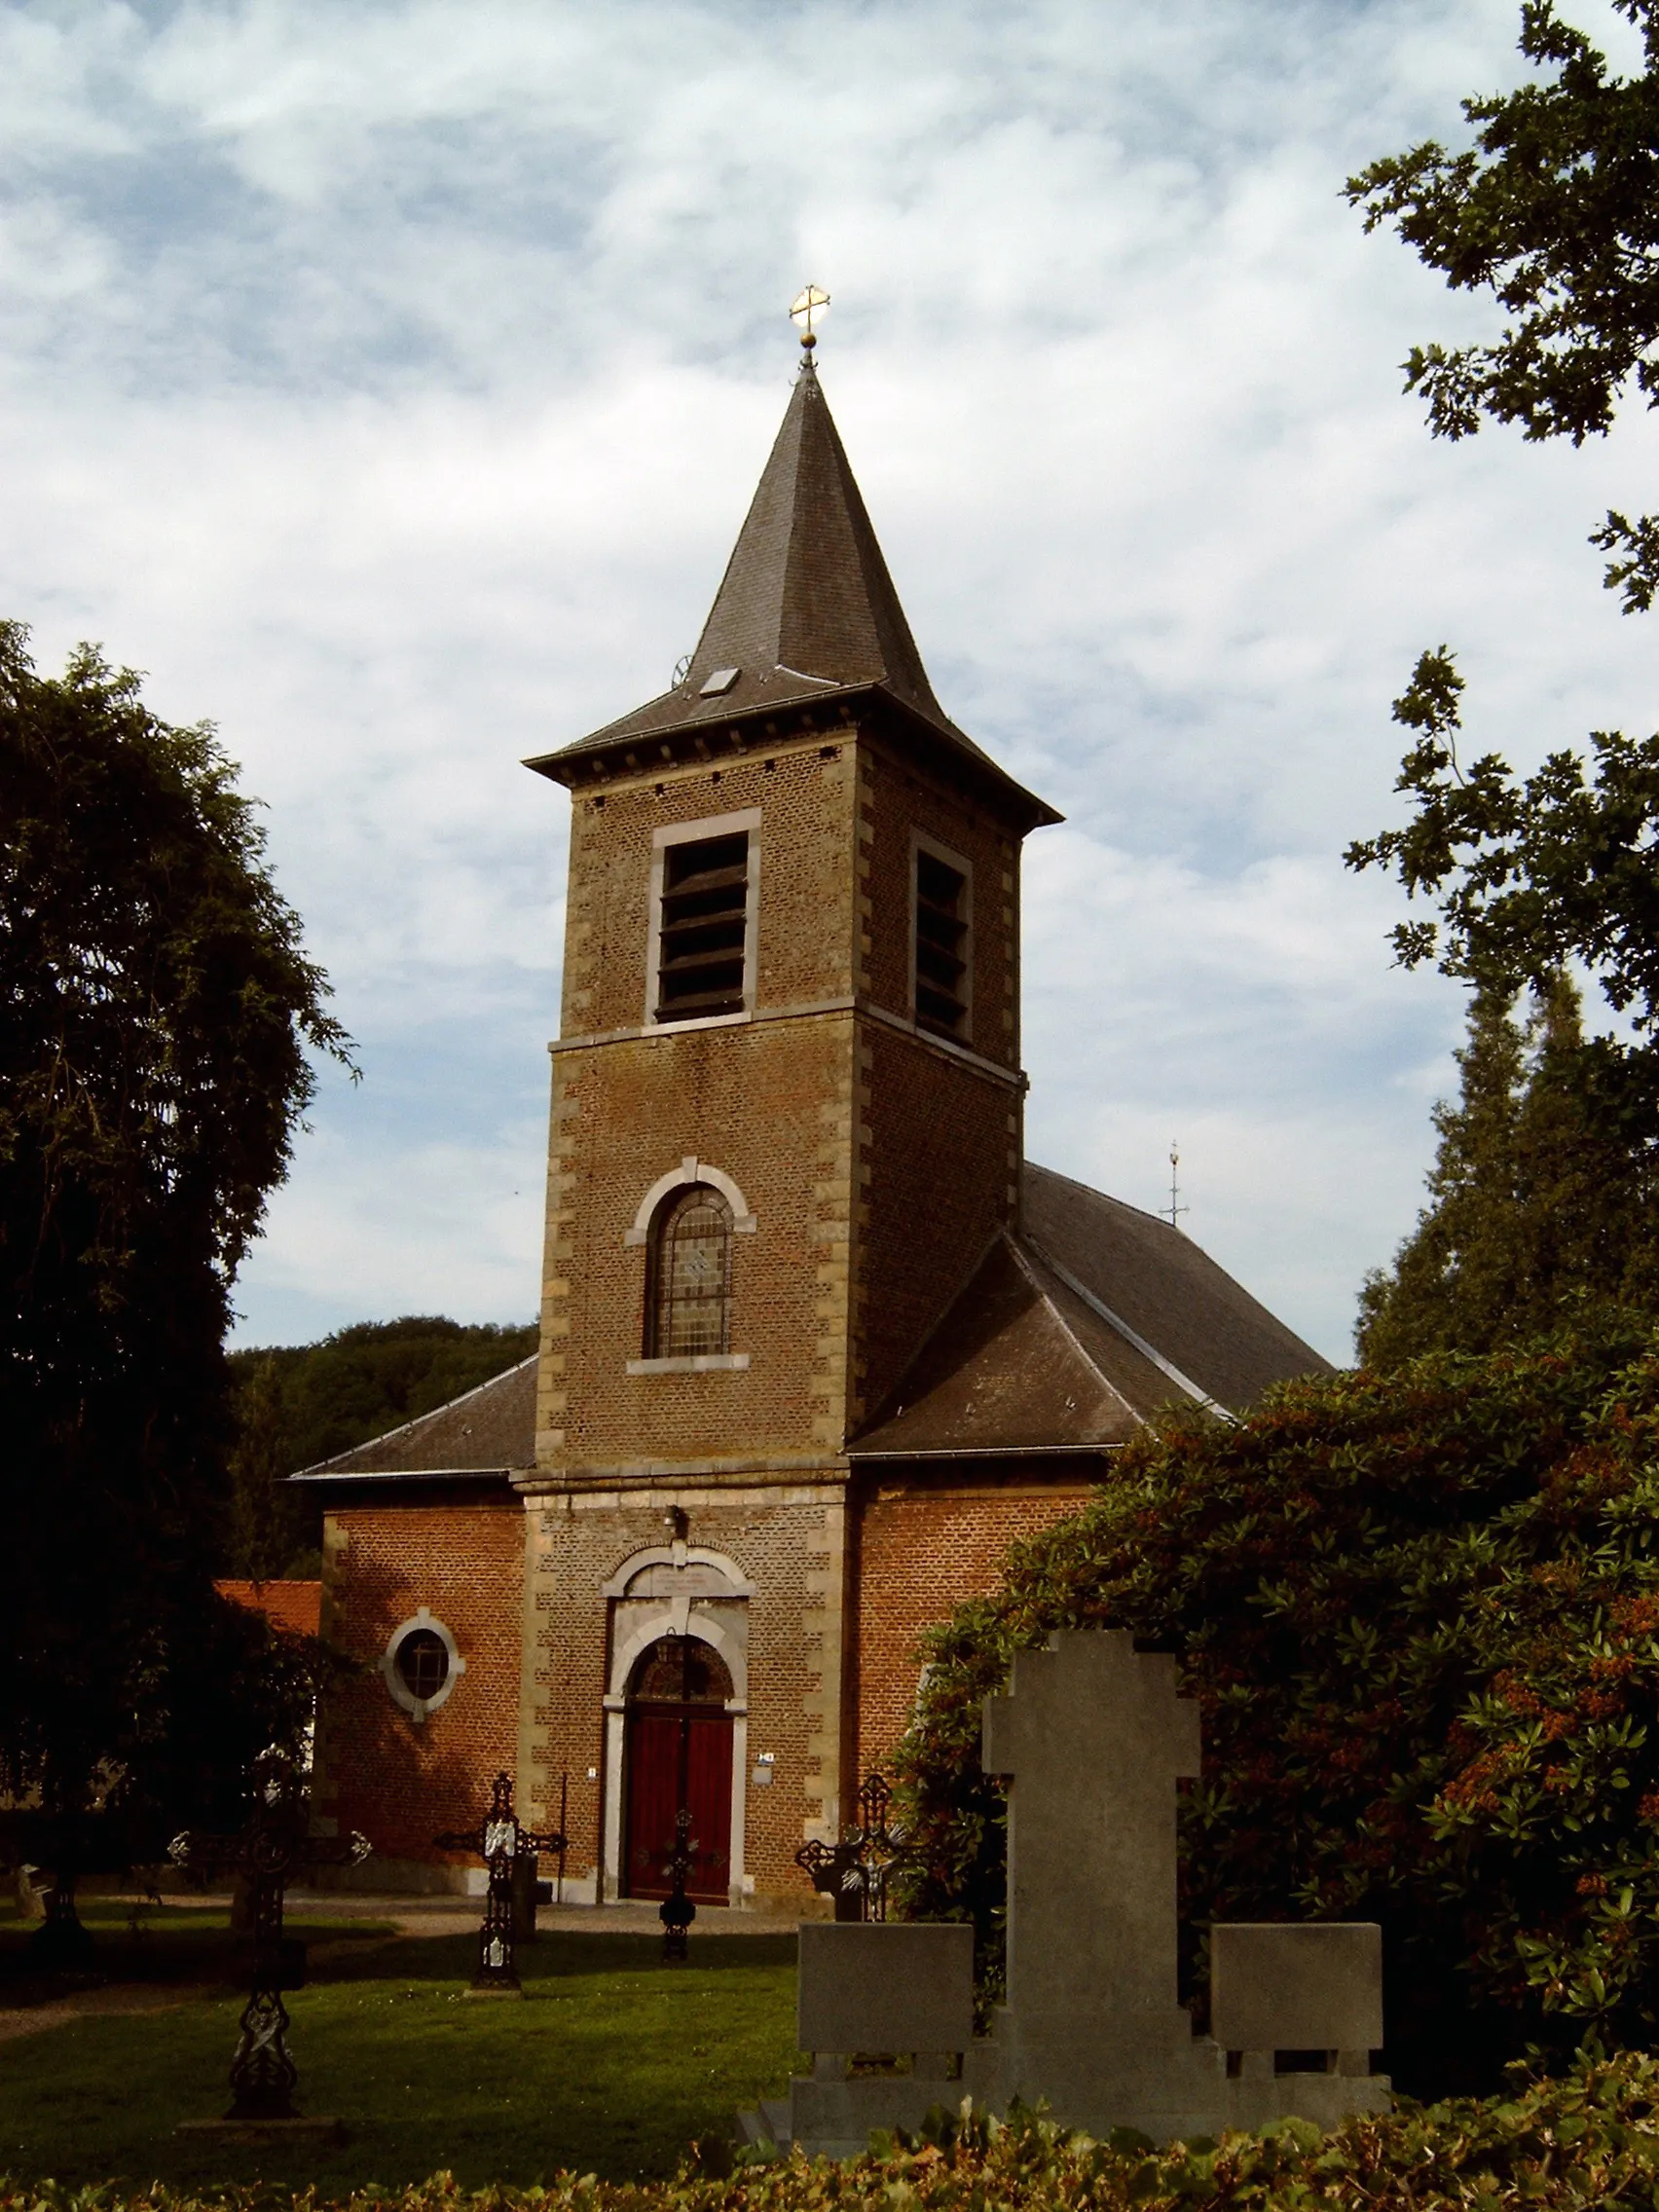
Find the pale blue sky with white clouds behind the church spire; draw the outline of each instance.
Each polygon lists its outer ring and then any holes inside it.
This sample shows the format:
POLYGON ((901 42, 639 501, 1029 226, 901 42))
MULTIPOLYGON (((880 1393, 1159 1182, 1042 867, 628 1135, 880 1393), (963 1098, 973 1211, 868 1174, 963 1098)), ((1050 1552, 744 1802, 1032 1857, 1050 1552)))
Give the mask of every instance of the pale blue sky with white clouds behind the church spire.
MULTIPOLYGON (((1566 13, 1628 51, 1599 0, 1566 13)), ((1484 327, 1343 177, 1515 82, 1515 0, 0 9, 0 613, 212 717, 363 1084, 241 1338, 535 1307, 564 796, 661 690, 821 365, 1029 847, 1033 1157, 1323 1352, 1409 1228, 1460 995, 1389 964, 1389 699, 1449 639, 1515 761, 1652 728, 1584 535, 1646 420, 1436 447, 1484 327)))

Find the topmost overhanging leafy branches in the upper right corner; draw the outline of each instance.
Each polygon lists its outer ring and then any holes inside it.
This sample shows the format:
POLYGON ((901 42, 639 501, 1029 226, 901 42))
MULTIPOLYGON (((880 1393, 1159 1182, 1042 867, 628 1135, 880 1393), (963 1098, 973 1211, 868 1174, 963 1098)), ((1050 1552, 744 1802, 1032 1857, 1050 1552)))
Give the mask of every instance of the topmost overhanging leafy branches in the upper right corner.
MULTIPOLYGON (((1491 345, 1411 349, 1407 389, 1440 438, 1491 418, 1582 445, 1630 383, 1659 405, 1659 4, 1615 7, 1641 31, 1641 75, 1610 75, 1551 0, 1526 0, 1520 51, 1546 80, 1464 100, 1471 148, 1427 139, 1347 181, 1367 230, 1396 223, 1449 285, 1515 319, 1491 345)), ((1659 515, 1610 513, 1593 542, 1617 555, 1626 613, 1652 606, 1659 515)))

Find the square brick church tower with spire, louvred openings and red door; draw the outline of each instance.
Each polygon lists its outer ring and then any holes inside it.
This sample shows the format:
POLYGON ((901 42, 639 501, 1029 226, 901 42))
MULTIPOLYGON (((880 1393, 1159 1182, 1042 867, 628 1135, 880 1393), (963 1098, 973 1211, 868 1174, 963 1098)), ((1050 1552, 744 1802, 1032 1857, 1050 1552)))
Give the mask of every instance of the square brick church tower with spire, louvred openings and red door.
POLYGON ((655 1893, 675 1803, 703 1896, 799 1893, 854 1759, 847 1447, 1013 1225, 1057 821, 933 697, 810 347, 681 679, 529 765, 571 878, 524 1796, 597 1896, 655 1893))

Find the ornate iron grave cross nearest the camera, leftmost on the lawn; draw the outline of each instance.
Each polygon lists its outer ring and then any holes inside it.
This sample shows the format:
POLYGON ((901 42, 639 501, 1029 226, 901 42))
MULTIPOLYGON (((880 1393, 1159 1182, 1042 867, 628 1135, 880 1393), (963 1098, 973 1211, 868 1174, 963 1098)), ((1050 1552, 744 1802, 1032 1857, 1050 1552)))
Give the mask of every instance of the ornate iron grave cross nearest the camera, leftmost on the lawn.
POLYGON ((254 1916, 250 1995, 230 2062, 226 2119, 296 2119, 299 2068, 288 2048, 285 1989, 305 1986, 305 1944, 283 1936, 283 1891, 312 1867, 356 1867, 369 1856, 367 1836, 312 1836, 310 1798, 294 1761, 263 1752, 252 1772, 252 1814, 237 1836, 184 1829, 168 1858, 190 1874, 234 1869, 248 1876, 254 1916))

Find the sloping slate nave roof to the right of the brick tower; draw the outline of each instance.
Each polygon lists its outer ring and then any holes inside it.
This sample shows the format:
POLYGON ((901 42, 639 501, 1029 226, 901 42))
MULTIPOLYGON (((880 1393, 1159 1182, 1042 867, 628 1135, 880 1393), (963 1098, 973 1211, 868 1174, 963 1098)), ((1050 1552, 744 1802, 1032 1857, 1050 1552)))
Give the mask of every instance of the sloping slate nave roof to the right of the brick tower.
POLYGON ((1298 1374, 1329 1363, 1190 1237, 1026 1164, 1018 1234, 995 1239, 849 1451, 1099 1451, 1159 1407, 1241 1413, 1298 1374))

